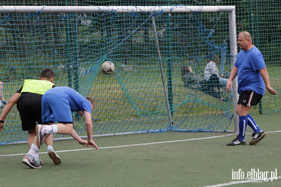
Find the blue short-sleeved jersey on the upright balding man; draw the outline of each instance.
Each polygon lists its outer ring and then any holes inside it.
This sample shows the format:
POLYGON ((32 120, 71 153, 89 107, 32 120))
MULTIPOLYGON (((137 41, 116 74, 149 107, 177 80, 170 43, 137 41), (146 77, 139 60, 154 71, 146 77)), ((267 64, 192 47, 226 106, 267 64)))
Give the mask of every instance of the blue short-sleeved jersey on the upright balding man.
POLYGON ((248 51, 240 50, 234 66, 238 68, 239 95, 244 90, 253 90, 257 94, 264 95, 265 84, 259 70, 266 66, 264 56, 257 47, 254 46, 248 51))

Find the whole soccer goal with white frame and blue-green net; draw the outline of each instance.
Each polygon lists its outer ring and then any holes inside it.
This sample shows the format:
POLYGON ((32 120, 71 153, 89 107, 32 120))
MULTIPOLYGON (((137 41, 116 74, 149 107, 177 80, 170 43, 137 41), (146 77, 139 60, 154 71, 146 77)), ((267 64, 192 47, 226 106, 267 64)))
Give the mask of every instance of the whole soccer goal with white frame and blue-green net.
MULTIPOLYGON (((190 66, 204 79, 216 57, 227 79, 237 55, 234 6, 0 6, 0 31, 5 98, 51 68, 56 86, 95 100, 95 136, 226 132, 233 119, 238 131, 237 82, 233 97, 223 88, 217 98, 184 76, 190 66), (101 72, 104 61, 115 65, 113 74, 101 72)), ((85 134, 84 119, 73 118, 85 134)), ((16 107, 4 125, 1 145, 27 140, 16 107)))

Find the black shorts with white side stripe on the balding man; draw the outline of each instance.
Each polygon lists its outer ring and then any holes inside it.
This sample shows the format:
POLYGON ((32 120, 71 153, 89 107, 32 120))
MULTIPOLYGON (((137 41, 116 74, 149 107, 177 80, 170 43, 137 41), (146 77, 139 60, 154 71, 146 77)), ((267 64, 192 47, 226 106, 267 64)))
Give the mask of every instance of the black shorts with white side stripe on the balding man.
POLYGON ((256 106, 263 95, 255 93, 253 90, 244 90, 241 95, 239 95, 239 99, 237 104, 241 104, 243 106, 256 106))

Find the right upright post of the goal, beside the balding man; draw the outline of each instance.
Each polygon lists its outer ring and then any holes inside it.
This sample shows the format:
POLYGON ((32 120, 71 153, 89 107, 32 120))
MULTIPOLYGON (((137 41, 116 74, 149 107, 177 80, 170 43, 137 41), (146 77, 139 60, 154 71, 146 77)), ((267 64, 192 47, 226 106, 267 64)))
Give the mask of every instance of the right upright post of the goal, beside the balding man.
MULTIPOLYGON (((236 31, 236 15, 235 9, 228 14, 229 16, 229 40, 230 40, 230 55, 231 55, 231 68, 233 68, 237 56, 237 31, 236 31)), ((239 116, 236 113, 236 107, 238 102, 238 82, 237 77, 232 80, 232 92, 233 92, 233 113, 234 113, 234 131, 239 132, 239 116)))

